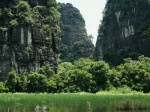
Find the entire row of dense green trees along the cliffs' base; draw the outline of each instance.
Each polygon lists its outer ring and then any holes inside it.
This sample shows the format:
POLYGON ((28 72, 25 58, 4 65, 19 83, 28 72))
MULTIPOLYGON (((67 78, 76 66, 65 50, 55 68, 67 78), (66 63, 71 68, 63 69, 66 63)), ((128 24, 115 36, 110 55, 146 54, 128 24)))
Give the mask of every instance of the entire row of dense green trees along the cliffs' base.
POLYGON ((150 92, 150 58, 124 59, 110 67, 105 61, 81 58, 74 63, 63 62, 55 74, 49 65, 28 76, 11 71, 0 92, 98 92, 128 86, 132 90, 150 92))

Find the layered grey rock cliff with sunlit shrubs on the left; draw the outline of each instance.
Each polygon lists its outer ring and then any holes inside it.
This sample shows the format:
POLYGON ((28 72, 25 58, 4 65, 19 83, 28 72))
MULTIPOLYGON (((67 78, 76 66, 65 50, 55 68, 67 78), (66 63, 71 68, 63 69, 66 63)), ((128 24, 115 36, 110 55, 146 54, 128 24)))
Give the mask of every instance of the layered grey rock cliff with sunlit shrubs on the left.
POLYGON ((0 1, 0 80, 45 64, 57 71, 59 18, 55 0, 0 1))

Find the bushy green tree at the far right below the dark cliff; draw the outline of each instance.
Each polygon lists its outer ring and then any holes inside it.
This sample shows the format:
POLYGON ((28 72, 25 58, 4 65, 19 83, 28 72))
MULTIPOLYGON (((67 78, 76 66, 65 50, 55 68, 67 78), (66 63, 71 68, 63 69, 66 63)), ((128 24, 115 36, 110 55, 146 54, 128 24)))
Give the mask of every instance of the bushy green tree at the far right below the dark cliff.
POLYGON ((125 63, 117 67, 121 73, 121 85, 133 90, 150 92, 150 58, 140 56, 139 60, 125 59, 125 63))

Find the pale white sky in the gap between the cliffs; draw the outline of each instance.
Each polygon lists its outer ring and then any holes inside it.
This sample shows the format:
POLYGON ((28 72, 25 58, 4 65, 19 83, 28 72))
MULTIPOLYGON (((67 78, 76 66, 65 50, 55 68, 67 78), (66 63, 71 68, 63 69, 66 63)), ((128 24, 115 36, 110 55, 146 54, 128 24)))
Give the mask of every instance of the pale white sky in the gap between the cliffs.
POLYGON ((106 0, 56 0, 61 3, 71 3, 80 10, 85 23, 88 34, 94 37, 95 44, 100 20, 102 20, 102 12, 105 7, 106 0))

